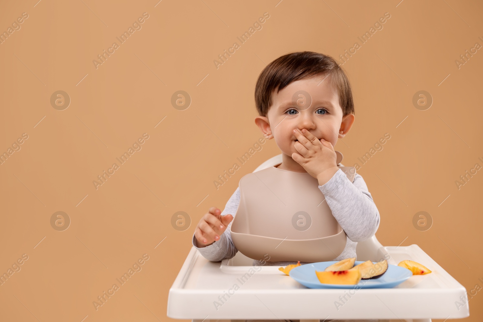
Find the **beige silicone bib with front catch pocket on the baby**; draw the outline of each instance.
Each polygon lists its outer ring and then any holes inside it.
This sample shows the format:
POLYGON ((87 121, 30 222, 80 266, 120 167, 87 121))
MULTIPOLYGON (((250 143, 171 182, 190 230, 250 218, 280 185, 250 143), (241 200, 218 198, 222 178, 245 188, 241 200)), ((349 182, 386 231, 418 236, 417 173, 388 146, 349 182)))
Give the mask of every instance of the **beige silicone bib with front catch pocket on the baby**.
MULTIPOLYGON (((355 168, 338 167, 350 182, 355 168)), ((309 173, 276 168, 240 180, 240 205, 231 224, 235 247, 256 260, 324 262, 339 256, 346 234, 332 215, 318 181, 309 173)))

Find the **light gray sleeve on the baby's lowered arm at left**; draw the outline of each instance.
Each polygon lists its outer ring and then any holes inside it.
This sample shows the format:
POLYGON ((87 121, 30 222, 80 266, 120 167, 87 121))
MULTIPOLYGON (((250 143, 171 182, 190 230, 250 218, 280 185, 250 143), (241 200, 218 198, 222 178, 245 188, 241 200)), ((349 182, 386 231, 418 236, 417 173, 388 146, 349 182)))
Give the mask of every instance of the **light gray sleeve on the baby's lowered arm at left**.
POLYGON ((199 250, 201 255, 212 261, 212 262, 220 262, 225 258, 232 258, 238 252, 237 248, 233 244, 231 240, 231 233, 230 228, 233 220, 235 219, 235 214, 238 210, 238 205, 240 204, 240 187, 238 187, 233 195, 228 199, 225 209, 221 212, 222 216, 227 214, 231 214, 233 219, 228 224, 227 229, 220 235, 219 240, 215 240, 213 244, 208 245, 206 247, 197 247, 196 246, 196 237, 193 233, 193 246, 199 250))

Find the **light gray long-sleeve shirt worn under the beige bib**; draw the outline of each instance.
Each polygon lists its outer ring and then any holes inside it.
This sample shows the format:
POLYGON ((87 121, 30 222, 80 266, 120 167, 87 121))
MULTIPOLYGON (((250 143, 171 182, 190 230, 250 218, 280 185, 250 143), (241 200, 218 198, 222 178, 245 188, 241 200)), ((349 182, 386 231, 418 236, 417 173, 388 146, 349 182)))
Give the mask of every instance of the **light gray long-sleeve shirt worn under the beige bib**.
MULTIPOLYGON (((363 241, 374 235, 379 227, 379 211, 377 210, 372 196, 370 195, 366 182, 358 173, 355 174, 354 182, 350 182, 345 173, 339 169, 334 176, 324 185, 319 185, 320 191, 326 197, 332 215, 339 222, 345 234, 347 243, 342 253, 333 259, 340 261, 349 257, 356 257, 355 246, 358 241, 363 241)), ((225 209, 221 215, 231 214, 235 217, 240 204, 240 187, 228 199, 225 209)), ((193 234, 193 246, 199 250, 201 255, 212 262, 219 262, 225 258, 232 258, 238 252, 233 244, 230 228, 233 220, 228 224, 227 229, 220 235, 220 239, 206 247, 196 246, 196 237, 193 234)), ((297 262, 285 261, 258 261, 254 260, 253 265, 286 266, 297 264, 297 262)), ((308 264, 308 262, 300 262, 308 264)))

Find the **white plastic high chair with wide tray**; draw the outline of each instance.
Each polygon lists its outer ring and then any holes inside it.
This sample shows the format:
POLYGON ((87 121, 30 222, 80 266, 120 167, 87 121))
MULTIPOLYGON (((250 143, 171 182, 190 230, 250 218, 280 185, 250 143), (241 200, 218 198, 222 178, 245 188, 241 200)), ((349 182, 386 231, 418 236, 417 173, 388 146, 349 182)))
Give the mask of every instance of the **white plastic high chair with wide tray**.
MULTIPOLYGON (((281 162, 282 154, 276 155, 253 172, 281 162)), ((374 235, 358 242, 356 253, 358 261, 377 262, 385 258, 388 264, 398 265, 410 259, 432 272, 413 275, 389 289, 309 289, 279 271, 278 266, 252 266, 253 259, 241 252, 233 258, 211 262, 192 247, 170 288, 167 316, 193 322, 257 319, 431 322, 431 319, 469 316, 465 287, 419 246, 383 246, 374 235), (343 305, 336 306, 335 301, 343 305)))

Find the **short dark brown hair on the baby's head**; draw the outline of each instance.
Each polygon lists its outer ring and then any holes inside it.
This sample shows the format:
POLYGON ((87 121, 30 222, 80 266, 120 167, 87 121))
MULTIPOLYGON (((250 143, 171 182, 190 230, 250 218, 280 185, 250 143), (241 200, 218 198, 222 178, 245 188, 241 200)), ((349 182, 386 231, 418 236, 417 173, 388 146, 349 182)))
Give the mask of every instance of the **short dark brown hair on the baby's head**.
POLYGON ((339 92, 339 104, 343 115, 355 113, 349 79, 331 56, 315 52, 296 52, 280 56, 272 61, 258 76, 255 86, 255 105, 260 116, 267 116, 271 94, 288 84, 315 75, 326 76, 339 92))

